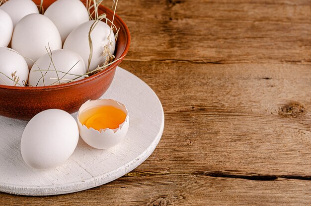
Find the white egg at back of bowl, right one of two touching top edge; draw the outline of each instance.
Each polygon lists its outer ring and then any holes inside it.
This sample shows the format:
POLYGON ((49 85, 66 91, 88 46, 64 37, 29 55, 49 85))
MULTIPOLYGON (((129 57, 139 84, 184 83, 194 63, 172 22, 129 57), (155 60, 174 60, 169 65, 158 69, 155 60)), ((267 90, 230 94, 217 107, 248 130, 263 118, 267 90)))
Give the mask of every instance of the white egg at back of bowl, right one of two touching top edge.
POLYGON ((44 12, 58 28, 62 42, 78 25, 88 21, 88 12, 80 0, 57 0, 44 12))

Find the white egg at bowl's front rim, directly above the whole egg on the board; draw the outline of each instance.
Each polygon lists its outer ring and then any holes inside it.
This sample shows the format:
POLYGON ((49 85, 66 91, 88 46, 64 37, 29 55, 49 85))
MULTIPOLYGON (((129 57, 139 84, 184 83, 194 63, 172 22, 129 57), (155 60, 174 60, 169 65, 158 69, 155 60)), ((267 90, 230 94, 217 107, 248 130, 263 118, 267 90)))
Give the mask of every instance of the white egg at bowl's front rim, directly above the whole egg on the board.
POLYGON ((83 59, 74 51, 54 50, 40 57, 29 73, 29 85, 33 87, 58 85, 78 81, 86 72, 83 59), (52 58, 52 60, 51 60, 52 58))

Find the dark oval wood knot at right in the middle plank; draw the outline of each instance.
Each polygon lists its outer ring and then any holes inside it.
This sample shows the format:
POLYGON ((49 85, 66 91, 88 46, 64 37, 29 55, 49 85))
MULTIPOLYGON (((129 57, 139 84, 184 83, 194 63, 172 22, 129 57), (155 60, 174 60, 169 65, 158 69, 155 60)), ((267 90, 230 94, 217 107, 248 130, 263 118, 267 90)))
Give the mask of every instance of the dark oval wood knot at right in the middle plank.
POLYGON ((285 117, 298 117, 306 113, 305 106, 298 102, 287 103, 279 107, 279 114, 285 117))

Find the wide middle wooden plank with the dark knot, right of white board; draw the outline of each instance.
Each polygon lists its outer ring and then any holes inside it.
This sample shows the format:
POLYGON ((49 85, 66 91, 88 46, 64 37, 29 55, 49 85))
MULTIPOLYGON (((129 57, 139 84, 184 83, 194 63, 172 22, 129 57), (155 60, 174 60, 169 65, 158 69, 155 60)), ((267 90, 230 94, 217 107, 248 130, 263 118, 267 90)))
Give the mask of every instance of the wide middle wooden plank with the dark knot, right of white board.
POLYGON ((136 171, 311 178, 311 70, 297 64, 127 62, 165 113, 136 171))

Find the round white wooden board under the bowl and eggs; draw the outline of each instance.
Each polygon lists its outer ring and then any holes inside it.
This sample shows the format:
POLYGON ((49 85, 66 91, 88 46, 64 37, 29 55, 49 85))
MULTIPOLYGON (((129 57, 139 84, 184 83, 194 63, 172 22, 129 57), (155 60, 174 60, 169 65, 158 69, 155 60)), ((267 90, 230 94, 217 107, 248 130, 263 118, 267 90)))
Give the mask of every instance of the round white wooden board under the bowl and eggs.
POLYGON ((21 157, 20 138, 28 121, 0 116, 0 191, 31 196, 73 193, 113 181, 142 164, 155 150, 164 128, 156 94, 138 77, 118 68, 102 98, 127 106, 126 138, 107 150, 94 149, 79 138, 66 163, 47 171, 30 168, 21 157))

